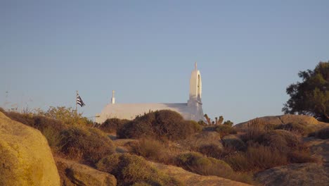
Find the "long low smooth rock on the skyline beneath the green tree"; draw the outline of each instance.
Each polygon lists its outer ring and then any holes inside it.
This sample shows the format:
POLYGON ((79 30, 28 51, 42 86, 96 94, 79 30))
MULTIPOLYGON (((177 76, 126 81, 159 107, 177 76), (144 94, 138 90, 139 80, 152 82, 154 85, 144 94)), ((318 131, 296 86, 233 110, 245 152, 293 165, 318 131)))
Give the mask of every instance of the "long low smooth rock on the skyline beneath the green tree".
MULTIPOLYGON (((282 116, 264 116, 258 119, 263 121, 264 124, 270 124, 270 125, 300 123, 303 125, 313 125, 316 129, 325 128, 329 126, 329 123, 320 122, 316 120, 316 118, 306 115, 286 114, 282 116)), ((248 120, 247 122, 243 122, 243 123, 238 123, 234 125, 234 128, 243 130, 247 127, 247 123, 249 123, 250 121, 251 120, 248 120)))

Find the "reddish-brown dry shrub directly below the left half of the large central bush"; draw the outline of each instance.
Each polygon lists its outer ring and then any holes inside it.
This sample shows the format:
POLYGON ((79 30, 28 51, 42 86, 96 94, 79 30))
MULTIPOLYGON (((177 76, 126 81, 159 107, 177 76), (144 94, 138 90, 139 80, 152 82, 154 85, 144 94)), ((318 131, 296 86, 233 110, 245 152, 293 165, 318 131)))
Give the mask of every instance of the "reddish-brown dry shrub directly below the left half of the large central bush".
POLYGON ((163 142, 143 138, 131 144, 131 152, 146 159, 162 163, 169 162, 169 150, 163 142))

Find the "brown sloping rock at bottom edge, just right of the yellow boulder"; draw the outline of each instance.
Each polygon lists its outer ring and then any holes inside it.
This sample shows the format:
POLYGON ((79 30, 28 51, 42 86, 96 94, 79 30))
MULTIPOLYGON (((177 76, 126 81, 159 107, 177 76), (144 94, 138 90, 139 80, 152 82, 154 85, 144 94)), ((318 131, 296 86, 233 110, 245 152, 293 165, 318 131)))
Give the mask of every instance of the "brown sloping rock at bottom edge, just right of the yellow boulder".
POLYGON ((98 171, 75 161, 58 157, 55 160, 62 185, 117 185, 117 179, 115 179, 114 175, 98 171))

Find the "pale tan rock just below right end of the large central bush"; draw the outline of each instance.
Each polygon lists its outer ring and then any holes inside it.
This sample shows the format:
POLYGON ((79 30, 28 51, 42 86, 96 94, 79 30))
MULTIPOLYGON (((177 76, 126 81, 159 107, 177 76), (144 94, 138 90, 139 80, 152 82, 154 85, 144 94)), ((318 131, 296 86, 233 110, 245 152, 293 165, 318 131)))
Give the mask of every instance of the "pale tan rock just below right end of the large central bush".
POLYGON ((179 144, 179 147, 186 150, 197 149, 198 147, 209 144, 214 144, 219 147, 219 149, 223 149, 221 137, 218 132, 203 131, 188 137, 186 140, 178 141, 177 144, 179 144))

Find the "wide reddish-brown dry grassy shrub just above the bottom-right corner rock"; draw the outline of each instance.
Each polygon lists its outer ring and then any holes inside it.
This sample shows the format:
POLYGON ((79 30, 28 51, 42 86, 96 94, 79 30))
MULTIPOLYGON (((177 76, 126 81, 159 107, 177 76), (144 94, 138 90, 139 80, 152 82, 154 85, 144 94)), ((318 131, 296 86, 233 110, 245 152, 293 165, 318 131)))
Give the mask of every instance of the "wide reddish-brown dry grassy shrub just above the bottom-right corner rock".
POLYGON ((271 147, 254 144, 247 151, 228 156, 224 159, 234 171, 262 171, 288 163, 286 156, 271 147))

